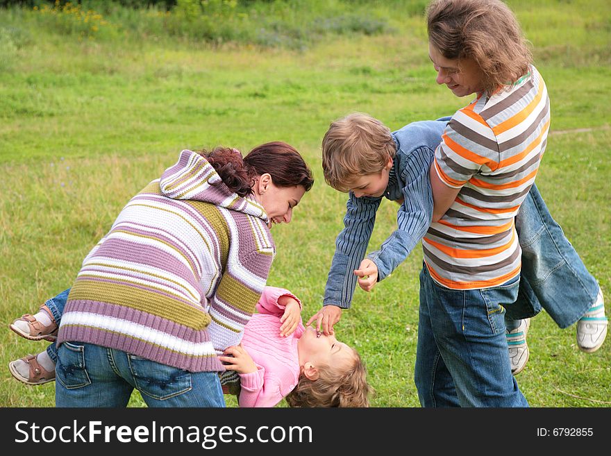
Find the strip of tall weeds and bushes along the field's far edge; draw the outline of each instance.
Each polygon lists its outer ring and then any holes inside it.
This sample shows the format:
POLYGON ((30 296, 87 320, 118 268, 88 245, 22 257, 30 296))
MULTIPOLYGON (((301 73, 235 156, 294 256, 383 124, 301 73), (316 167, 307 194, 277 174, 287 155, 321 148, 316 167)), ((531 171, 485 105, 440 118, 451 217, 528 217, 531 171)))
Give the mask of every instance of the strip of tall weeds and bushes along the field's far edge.
POLYGON ((421 15, 427 1, 0 0, 0 44, 18 49, 40 28, 78 40, 175 37, 306 49, 330 35, 396 33, 396 10, 421 15))

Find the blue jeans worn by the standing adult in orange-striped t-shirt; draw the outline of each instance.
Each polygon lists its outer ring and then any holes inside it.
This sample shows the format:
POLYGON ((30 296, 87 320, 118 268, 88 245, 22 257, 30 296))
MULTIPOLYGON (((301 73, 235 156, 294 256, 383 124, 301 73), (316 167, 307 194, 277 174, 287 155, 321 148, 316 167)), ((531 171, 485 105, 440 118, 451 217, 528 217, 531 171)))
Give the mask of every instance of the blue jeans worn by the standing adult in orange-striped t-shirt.
POLYGON ((415 383, 423 407, 528 407, 511 373, 505 307, 519 277, 487 289, 437 285, 420 272, 415 383))

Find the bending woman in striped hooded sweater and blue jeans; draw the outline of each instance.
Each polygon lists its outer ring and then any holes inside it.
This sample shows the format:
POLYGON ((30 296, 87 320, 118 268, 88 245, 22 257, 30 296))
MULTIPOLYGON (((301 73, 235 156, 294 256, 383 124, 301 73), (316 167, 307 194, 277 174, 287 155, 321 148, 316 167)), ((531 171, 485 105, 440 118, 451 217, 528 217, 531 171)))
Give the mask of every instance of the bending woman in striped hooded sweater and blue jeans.
MULTIPOLYGON (((269 229, 313 182, 282 142, 244 158, 182 151, 83 261, 57 334, 56 405, 124 407, 135 388, 149 407, 224 406, 217 355, 240 343, 265 287, 269 229)), ((44 369, 22 363, 11 370, 44 369)))

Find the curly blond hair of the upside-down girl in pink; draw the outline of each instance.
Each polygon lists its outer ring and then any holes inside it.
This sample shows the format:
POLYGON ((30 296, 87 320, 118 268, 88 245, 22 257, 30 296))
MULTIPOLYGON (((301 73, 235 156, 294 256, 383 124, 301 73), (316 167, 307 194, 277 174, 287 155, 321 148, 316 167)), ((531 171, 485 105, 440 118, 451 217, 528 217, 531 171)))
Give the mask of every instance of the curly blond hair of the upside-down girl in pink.
POLYGON ((286 401, 290 407, 369 407, 367 369, 354 348, 354 362, 347 369, 319 366, 317 380, 303 373, 286 401))

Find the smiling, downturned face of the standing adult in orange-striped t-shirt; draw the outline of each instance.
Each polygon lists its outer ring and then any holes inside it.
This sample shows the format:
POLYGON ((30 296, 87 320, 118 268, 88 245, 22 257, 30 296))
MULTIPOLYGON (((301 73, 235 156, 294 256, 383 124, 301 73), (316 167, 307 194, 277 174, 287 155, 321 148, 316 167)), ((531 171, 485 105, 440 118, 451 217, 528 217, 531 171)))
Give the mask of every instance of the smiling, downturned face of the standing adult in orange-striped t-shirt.
POLYGON ((437 84, 445 84, 455 96, 482 92, 482 74, 471 58, 445 58, 433 44, 428 44, 428 56, 437 71, 437 84))

